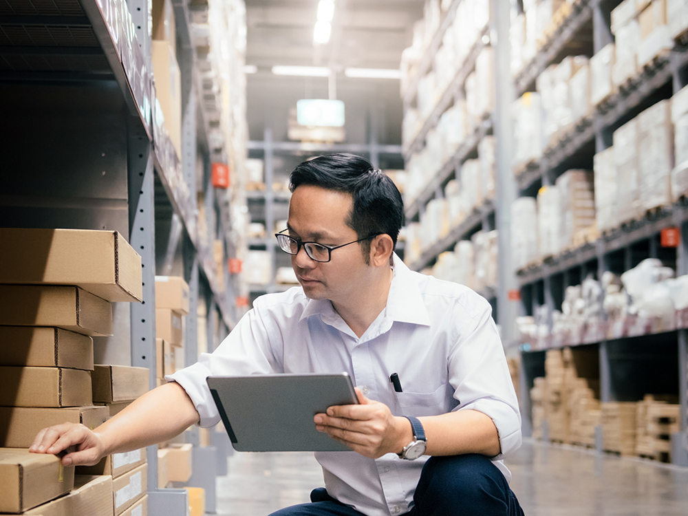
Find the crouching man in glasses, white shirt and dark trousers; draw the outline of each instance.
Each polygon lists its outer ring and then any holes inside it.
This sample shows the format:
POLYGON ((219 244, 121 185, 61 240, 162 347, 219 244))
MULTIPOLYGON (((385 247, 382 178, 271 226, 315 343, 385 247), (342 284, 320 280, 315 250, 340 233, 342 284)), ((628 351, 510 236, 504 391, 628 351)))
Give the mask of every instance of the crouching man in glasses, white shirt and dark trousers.
POLYGON ((499 460, 521 431, 490 305, 394 255, 402 199, 366 160, 304 162, 291 189, 277 239, 301 288, 257 299, 213 354, 95 431, 45 429, 32 451, 75 446, 63 462, 90 464, 212 426, 209 375, 345 371, 361 405, 330 407, 314 424, 352 451, 316 453, 326 491, 275 515, 522 515, 499 460))

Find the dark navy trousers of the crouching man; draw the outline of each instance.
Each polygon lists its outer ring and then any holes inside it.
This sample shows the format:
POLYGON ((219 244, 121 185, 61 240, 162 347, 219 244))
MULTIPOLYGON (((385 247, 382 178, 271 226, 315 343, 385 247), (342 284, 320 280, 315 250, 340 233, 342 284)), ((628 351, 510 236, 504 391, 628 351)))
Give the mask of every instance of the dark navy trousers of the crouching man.
MULTIPOLYGON (((278 510, 272 516, 361 516, 327 495, 311 493, 310 504, 278 510)), ((523 516, 504 475, 484 455, 431 457, 423 466, 408 516, 523 516)))

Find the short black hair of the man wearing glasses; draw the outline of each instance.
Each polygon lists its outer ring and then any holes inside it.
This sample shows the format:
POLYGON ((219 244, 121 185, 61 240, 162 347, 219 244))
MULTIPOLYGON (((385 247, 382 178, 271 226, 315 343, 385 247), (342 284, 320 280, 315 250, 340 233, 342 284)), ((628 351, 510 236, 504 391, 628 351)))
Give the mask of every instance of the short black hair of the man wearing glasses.
MULTIPOLYGON (((336 153, 299 164, 290 175, 290 191, 302 184, 352 195, 354 204, 346 224, 359 239, 387 234, 394 247, 404 225, 404 202, 389 176, 360 156, 336 153)), ((361 242, 369 264, 370 240, 361 242)))

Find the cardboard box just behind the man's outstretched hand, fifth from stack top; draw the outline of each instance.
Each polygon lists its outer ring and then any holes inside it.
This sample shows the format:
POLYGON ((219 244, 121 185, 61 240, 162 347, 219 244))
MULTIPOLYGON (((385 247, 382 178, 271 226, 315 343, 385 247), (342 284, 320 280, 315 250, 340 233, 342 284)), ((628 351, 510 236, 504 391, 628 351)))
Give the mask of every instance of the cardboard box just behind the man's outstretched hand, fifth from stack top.
POLYGON ((36 434, 44 428, 62 423, 80 423, 89 429, 103 424, 109 413, 107 407, 0 407, 0 446, 28 448, 36 434))

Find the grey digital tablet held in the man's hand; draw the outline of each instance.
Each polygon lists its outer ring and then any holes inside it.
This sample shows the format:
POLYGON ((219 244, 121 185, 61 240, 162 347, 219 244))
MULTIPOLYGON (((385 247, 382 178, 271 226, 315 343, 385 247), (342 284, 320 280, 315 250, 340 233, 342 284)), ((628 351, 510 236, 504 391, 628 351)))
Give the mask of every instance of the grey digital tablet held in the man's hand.
POLYGON ((313 422, 327 407, 358 404, 346 373, 208 376, 208 387, 237 451, 349 450, 313 422))

